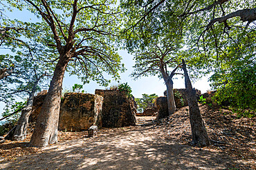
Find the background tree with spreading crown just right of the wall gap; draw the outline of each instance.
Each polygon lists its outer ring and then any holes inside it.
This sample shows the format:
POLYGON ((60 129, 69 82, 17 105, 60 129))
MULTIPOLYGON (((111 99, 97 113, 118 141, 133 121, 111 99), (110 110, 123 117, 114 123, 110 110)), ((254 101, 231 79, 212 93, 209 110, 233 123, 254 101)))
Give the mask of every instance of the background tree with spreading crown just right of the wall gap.
MULTIPOLYGON (((175 36, 175 35, 174 35, 175 36)), ((135 79, 141 76, 158 75, 163 78, 167 87, 167 103, 169 114, 174 114, 176 105, 173 93, 172 78, 179 68, 179 56, 175 53, 180 48, 179 42, 173 42, 169 39, 160 39, 149 41, 147 47, 136 52, 134 71, 131 73, 135 79), (172 72, 168 69, 172 67, 172 72)), ((173 37, 173 39, 175 39, 173 37)))

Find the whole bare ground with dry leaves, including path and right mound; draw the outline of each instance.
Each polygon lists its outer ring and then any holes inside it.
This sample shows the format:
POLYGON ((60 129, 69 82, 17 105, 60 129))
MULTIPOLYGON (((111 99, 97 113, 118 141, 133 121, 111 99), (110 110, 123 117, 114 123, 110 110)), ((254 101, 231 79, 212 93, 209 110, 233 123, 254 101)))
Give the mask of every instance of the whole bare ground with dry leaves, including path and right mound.
MULTIPOLYGON (((192 147, 188 107, 158 124, 60 132, 59 143, 29 147, 28 140, 0 144, 0 169, 256 169, 255 118, 201 106, 212 145, 192 147)), ((140 119, 143 119, 142 117, 140 119)))

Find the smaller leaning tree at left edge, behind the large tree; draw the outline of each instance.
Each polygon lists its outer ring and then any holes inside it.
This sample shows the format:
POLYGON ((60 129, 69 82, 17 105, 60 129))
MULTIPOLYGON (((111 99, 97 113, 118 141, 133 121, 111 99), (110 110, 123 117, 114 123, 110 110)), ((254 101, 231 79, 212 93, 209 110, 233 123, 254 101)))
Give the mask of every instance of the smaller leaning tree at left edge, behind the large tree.
MULTIPOLYGON (((33 61, 33 57, 24 56, 18 52, 19 56, 10 56, 9 54, 1 55, 1 63, 13 63, 13 72, 9 76, 0 80, 0 100, 8 105, 16 103, 17 98, 26 98, 26 105, 21 109, 21 116, 17 122, 16 129, 13 129, 12 140, 24 140, 26 138, 26 128, 28 118, 32 112, 33 98, 35 93, 47 82, 47 76, 50 76, 51 70, 33 61)), ((32 52, 30 53, 32 54, 32 52)), ((15 109, 16 110, 16 109, 15 109)))

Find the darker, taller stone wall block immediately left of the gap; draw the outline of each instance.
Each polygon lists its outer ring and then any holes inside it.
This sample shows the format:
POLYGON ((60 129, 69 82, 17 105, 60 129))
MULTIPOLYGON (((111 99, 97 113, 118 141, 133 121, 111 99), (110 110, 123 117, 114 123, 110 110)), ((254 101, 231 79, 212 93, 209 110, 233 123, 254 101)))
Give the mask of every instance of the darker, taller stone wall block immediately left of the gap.
POLYGON ((125 127, 136 125, 136 103, 119 90, 95 89, 95 94, 103 96, 102 127, 125 127))

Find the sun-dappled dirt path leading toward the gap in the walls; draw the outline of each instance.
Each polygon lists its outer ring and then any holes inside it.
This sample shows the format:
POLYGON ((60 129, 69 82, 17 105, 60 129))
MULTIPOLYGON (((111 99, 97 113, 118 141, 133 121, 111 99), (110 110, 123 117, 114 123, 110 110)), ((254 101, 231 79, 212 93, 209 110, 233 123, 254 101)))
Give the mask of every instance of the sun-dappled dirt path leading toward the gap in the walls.
POLYGON ((103 129, 98 137, 62 141, 42 153, 0 162, 0 169, 228 169, 246 161, 166 139, 154 126, 103 129))

